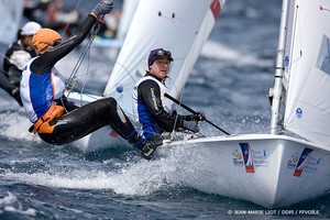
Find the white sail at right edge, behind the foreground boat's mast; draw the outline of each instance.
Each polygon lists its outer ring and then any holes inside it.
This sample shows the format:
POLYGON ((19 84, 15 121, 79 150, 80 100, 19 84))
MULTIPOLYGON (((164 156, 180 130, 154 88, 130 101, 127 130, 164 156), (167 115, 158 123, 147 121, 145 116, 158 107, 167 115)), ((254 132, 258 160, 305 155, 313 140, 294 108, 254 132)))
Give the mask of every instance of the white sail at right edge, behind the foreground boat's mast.
POLYGON ((285 129, 330 143, 330 1, 290 1, 285 79, 285 129), (292 28, 292 29, 290 29, 292 28))

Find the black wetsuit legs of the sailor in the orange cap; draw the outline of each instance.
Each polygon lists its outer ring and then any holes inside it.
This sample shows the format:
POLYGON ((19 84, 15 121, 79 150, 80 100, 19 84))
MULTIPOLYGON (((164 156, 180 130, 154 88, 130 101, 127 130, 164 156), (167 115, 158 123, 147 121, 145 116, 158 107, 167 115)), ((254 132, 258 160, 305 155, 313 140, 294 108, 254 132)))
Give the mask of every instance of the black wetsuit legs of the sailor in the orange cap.
POLYGON ((111 125, 125 140, 134 140, 138 136, 130 119, 113 98, 90 102, 53 120, 52 123, 55 123, 53 133, 38 134, 50 144, 62 145, 77 141, 106 125, 111 125))

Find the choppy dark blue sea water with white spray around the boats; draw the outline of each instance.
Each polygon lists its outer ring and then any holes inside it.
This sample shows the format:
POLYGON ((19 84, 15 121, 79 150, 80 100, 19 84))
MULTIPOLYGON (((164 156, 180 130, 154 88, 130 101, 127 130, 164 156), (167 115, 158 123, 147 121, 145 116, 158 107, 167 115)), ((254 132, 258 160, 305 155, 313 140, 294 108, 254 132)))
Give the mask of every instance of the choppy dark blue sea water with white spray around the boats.
MULTIPOLYGON (((82 11, 91 4, 77 2, 82 11)), ((228 0, 185 88, 186 105, 230 133, 266 132, 279 15, 279 1, 228 0)), ((79 52, 59 68, 69 74, 79 52)), ((87 91, 102 91, 112 65, 107 50, 91 48, 84 65, 97 77, 88 80, 87 91)), ((176 174, 185 167, 175 155, 146 162, 129 146, 82 154, 70 145, 47 145, 28 132, 22 109, 2 91, 0 99, 0 219, 330 218, 329 195, 271 215, 248 201, 186 187, 176 174), (245 213, 249 210, 258 215, 245 213), (318 213, 290 215, 292 210, 318 213)), ((219 133, 208 124, 201 130, 219 133)))

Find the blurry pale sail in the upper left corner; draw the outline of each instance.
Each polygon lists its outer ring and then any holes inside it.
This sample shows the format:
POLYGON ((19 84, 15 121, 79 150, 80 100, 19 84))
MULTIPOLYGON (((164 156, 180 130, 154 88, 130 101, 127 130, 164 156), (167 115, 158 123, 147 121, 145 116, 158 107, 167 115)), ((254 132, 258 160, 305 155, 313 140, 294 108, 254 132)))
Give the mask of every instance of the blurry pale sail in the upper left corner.
POLYGON ((0 43, 11 44, 15 37, 23 14, 22 0, 1 0, 0 14, 3 18, 0 28, 0 43))

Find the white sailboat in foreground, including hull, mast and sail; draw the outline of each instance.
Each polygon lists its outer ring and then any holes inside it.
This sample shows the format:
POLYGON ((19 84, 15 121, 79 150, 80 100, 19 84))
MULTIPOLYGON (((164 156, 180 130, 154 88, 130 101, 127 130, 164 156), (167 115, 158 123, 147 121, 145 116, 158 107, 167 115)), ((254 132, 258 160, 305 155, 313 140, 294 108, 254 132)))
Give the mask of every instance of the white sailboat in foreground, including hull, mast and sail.
POLYGON ((330 191, 329 20, 329 1, 283 0, 270 133, 165 144, 158 152, 190 146, 188 187, 265 208, 330 191))

